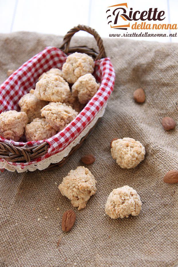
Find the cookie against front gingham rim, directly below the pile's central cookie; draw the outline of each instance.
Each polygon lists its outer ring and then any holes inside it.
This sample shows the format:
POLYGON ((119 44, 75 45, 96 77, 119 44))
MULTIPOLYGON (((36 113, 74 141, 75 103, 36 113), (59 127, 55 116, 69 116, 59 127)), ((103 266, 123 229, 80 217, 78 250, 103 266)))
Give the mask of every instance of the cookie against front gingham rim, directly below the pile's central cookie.
POLYGON ((61 131, 78 115, 78 112, 61 102, 51 102, 41 110, 41 115, 56 131, 61 131))

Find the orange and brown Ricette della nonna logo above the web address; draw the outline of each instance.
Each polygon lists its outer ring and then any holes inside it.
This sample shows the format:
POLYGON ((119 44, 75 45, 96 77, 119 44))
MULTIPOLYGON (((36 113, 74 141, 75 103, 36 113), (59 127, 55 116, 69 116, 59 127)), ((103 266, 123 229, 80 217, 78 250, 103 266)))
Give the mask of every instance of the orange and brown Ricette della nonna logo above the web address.
POLYGON ((158 8, 140 11, 121 3, 107 7, 106 14, 108 25, 115 30, 177 30, 177 24, 160 23, 166 16, 165 11, 158 8))

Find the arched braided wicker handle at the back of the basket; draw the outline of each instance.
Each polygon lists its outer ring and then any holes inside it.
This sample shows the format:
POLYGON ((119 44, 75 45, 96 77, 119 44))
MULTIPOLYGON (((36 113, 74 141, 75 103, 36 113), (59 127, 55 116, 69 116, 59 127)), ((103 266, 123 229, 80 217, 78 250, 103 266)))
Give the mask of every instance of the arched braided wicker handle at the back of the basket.
POLYGON ((61 49, 65 54, 68 54, 69 52, 86 53, 88 55, 92 55, 95 58, 95 60, 106 57, 105 48, 103 46, 102 39, 99 36, 99 34, 96 32, 96 30, 90 28, 89 26, 80 25, 80 24, 76 27, 73 27, 71 30, 69 30, 66 33, 66 35, 64 36, 64 39, 63 39, 63 43, 61 44, 59 49, 61 49), (94 38, 97 42, 98 48, 99 48, 99 53, 94 51, 94 49, 88 48, 86 46, 69 48, 69 44, 70 44, 70 40, 71 40, 72 36, 80 30, 88 32, 94 36, 94 38))

